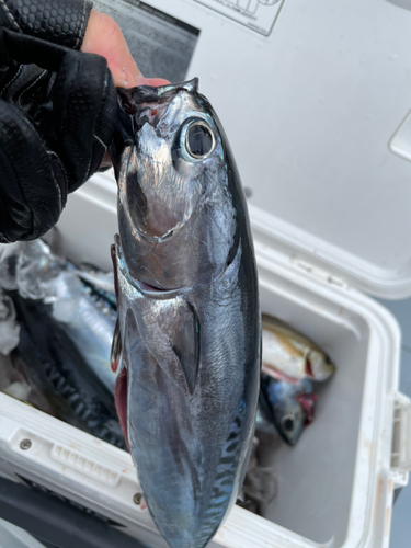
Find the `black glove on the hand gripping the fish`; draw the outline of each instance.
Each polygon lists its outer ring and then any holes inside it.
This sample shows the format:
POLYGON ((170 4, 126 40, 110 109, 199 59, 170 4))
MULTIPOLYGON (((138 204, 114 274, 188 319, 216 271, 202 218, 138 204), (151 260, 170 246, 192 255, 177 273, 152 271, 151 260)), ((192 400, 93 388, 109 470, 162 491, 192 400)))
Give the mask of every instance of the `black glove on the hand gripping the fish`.
POLYGON ((0 0, 0 242, 49 230, 111 141, 110 69, 78 52, 90 10, 88 0, 0 0))

